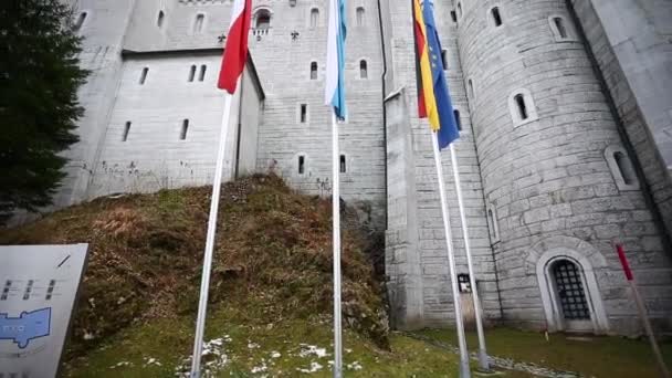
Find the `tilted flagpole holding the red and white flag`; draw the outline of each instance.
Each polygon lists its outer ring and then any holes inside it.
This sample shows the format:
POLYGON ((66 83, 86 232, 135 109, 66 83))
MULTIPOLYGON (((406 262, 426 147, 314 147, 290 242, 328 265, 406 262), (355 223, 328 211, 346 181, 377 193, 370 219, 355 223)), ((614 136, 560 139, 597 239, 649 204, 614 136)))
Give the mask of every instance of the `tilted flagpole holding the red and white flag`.
POLYGON ((212 254, 214 250, 214 235, 217 232, 217 213, 219 210, 219 197, 222 183, 222 170, 224 168, 224 150, 229 134, 229 118, 231 115, 231 97, 224 93, 224 114, 222 115, 221 133, 219 137, 219 150, 217 153, 217 165, 214 168, 214 180, 212 182, 212 198, 210 200, 210 217, 208 219, 208 237, 206 238, 206 252, 203 258, 203 271, 201 273, 201 293, 198 303, 198 318, 196 321, 196 336, 193 339, 193 354, 191 355, 191 378, 200 377, 201 353, 203 349, 203 334, 206 330, 206 314, 208 311, 208 290, 210 287, 210 270, 212 267, 212 254))

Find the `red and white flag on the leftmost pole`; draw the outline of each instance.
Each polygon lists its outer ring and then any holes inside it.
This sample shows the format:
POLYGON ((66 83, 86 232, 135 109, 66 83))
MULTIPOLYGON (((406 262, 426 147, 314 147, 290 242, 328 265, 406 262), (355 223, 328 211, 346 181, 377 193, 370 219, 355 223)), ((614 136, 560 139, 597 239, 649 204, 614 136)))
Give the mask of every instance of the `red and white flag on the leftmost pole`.
POLYGON ((231 9, 231 24, 217 87, 230 94, 235 92, 238 77, 248 61, 248 33, 252 15, 252 0, 235 0, 231 9))

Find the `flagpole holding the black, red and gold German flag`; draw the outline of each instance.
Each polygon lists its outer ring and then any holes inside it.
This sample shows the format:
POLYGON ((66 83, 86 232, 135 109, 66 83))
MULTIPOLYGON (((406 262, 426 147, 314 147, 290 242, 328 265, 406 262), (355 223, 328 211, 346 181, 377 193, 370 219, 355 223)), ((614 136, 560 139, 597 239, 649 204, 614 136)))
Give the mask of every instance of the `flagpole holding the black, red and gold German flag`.
POLYGON ((460 291, 458 290, 458 275, 455 273, 455 256, 453 251, 453 240, 450 229, 450 214, 448 211, 448 200, 445 198, 445 185, 443 183, 443 167, 441 164, 441 153, 439 151, 439 137, 437 132, 432 134, 432 148, 434 150, 434 162, 437 165, 437 176, 439 181, 439 195, 441 198, 441 212, 443 214, 443 231, 445 232, 445 246, 448 249, 448 267, 450 282, 453 291, 453 306, 455 308, 455 327, 458 328, 458 342, 460 344, 460 378, 471 377, 469 369, 469 351, 466 350, 466 339, 464 337, 464 324, 462 321, 462 306, 460 304, 460 291))

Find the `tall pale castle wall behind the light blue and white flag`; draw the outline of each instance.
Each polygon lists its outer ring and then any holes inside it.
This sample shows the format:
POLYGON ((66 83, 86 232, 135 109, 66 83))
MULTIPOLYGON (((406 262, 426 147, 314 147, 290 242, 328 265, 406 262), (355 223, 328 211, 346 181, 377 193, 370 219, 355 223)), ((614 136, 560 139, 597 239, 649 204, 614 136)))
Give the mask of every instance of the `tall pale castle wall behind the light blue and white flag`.
MULTIPOLYGON (((266 94, 260 127, 258 169, 274 170, 293 187, 313 195, 332 192, 332 116, 324 105, 327 35, 327 1, 255 1, 271 12, 267 33, 250 38, 250 49, 266 94), (317 24, 311 11, 317 9, 317 24), (292 33, 296 32, 296 39, 292 33), (311 63, 317 76, 311 80, 311 63), (307 106, 301 122, 301 104, 307 106), (304 171, 298 171, 303 156, 304 171)), ((254 15, 253 15, 254 18, 254 15)), ((348 119, 338 126, 340 154, 346 172, 340 174, 342 198, 354 204, 361 218, 382 230, 385 221, 385 148, 382 145, 382 62, 376 1, 347 2, 346 101, 348 119), (356 9, 365 10, 357 23, 356 9), (359 62, 367 62, 360 77, 359 62)))

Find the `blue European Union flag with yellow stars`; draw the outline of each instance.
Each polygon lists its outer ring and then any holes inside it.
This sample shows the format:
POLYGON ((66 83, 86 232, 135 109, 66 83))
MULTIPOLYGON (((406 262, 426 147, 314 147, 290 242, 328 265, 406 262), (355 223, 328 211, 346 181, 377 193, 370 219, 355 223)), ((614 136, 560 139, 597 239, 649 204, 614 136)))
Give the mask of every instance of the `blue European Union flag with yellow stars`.
POLYGON ((460 137, 453 104, 450 99, 448 82, 443 72, 443 61, 441 60, 441 42, 434 22, 433 4, 426 0, 422 4, 422 15, 427 28, 427 44, 429 46, 429 60, 432 65, 432 77, 434 80, 434 96, 437 97, 437 108, 441 128, 439 129, 439 148, 443 149, 460 137))

